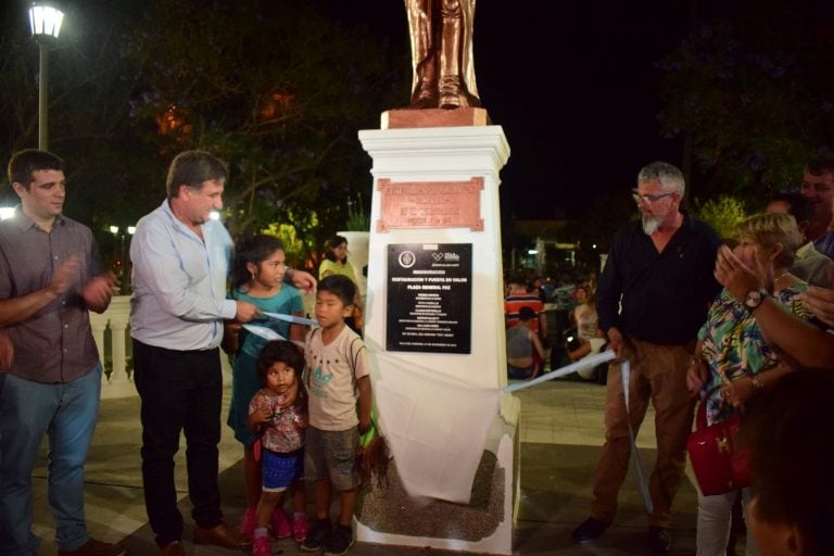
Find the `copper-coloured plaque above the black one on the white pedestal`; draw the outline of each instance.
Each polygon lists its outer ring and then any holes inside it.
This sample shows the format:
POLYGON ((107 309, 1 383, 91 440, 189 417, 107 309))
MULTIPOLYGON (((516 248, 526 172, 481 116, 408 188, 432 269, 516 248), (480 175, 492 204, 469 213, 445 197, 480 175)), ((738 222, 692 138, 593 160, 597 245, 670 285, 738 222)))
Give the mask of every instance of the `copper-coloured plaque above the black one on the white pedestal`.
POLYGON ((391 228, 469 228, 483 231, 483 177, 469 181, 377 180, 382 216, 377 231, 391 228))

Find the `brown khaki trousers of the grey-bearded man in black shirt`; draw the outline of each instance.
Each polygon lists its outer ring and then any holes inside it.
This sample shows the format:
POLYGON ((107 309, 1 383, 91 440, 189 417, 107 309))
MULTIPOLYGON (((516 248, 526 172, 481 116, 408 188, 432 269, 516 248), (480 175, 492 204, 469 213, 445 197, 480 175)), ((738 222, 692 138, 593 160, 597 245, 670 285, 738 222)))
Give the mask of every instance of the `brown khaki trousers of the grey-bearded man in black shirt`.
POLYGON ((624 356, 631 363, 629 409, 626 410, 620 365, 608 370, 605 402, 605 444, 594 471, 591 516, 610 523, 617 514, 617 494, 629 470, 631 439, 636 435, 649 400, 655 407, 657 459, 648 480, 654 505, 649 525, 668 528, 671 507, 686 464, 686 435, 692 430, 695 400, 686 390, 686 369, 695 342, 658 345, 627 338, 624 356))

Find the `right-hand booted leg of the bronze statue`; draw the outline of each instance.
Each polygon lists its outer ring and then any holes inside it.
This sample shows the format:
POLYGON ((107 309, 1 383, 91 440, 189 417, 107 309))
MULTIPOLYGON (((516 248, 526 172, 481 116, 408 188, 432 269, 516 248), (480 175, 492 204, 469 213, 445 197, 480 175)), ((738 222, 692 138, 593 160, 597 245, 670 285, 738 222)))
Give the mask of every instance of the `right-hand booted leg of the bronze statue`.
POLYGON ((464 15, 460 0, 440 0, 443 20, 440 54, 440 106, 444 109, 480 106, 478 98, 469 94, 463 76, 464 15))

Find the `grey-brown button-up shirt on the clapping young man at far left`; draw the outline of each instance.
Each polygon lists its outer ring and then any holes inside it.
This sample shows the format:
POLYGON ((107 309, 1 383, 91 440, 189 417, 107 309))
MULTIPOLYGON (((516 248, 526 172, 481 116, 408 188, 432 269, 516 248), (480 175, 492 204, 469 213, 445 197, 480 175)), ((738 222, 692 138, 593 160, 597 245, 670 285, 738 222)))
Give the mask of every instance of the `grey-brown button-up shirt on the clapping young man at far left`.
POLYGON ((100 274, 101 262, 90 229, 59 215, 43 231, 18 206, 0 222, 0 299, 17 298, 49 285, 71 256, 80 261, 70 288, 52 303, 7 327, 14 343, 9 372, 35 382, 70 382, 99 361, 81 288, 100 274))

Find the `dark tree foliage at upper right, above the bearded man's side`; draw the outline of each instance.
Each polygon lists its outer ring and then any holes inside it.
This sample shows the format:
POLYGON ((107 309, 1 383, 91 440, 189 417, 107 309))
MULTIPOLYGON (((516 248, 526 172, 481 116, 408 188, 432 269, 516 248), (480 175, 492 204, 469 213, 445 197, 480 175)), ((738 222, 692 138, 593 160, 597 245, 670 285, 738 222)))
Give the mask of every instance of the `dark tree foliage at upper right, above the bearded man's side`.
POLYGON ((831 2, 740 2, 660 63, 662 129, 688 141, 703 192, 762 197, 833 144, 832 21, 831 2))

